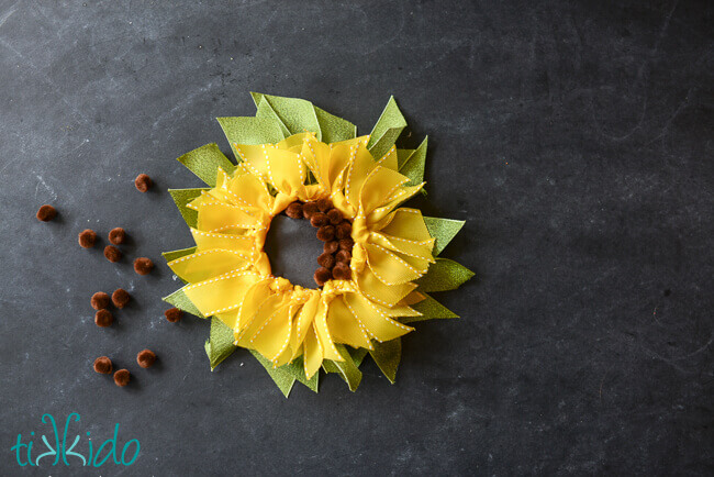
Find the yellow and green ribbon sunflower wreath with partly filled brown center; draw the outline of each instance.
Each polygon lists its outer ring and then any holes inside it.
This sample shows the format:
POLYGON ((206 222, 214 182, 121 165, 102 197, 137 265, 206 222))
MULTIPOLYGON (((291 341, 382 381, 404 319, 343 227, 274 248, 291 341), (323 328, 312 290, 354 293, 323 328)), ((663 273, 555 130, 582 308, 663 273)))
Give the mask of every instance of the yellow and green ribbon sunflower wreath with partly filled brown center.
POLYGON ((187 284, 165 300, 211 318, 212 369, 248 348, 286 397, 295 380, 316 391, 321 367, 355 390, 368 353, 394 382, 409 323, 456 317, 426 293, 473 275, 435 258, 462 221, 400 207, 424 187, 426 140, 397 148, 406 122, 393 98, 367 136, 309 101, 253 98, 254 118, 219 118, 237 165, 216 144, 178 158, 209 187, 169 190, 196 246, 164 254, 187 284), (286 209, 326 243, 313 289, 271 274, 264 244, 286 209))

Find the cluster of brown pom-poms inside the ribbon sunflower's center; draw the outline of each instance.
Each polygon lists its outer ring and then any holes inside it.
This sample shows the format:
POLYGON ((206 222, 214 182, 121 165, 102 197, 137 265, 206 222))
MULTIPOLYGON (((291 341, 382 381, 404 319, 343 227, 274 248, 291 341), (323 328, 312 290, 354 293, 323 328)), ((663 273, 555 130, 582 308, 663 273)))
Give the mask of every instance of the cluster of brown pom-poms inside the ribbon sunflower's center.
POLYGON ((305 219, 317 229, 317 239, 324 242, 323 253, 317 257, 320 268, 313 279, 322 287, 331 279, 349 280, 352 270, 352 222, 332 206, 330 199, 310 202, 292 202, 286 209, 290 219, 305 219))

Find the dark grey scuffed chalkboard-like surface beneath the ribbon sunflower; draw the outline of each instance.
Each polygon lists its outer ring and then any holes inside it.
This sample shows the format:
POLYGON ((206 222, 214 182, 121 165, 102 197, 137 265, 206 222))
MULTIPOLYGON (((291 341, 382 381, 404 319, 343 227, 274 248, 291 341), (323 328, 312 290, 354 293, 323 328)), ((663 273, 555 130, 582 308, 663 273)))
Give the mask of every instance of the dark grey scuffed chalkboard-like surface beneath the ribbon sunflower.
POLYGON ((0 4, 1 474, 712 472, 711 2, 0 4), (362 133, 393 93, 429 134, 422 206, 468 220, 445 256, 478 278, 439 297, 462 319, 404 340, 394 386, 367 363, 357 393, 286 400, 247 353, 210 373, 208 323, 163 319, 159 253, 191 244, 166 189, 200 185, 174 158, 227 149, 213 118, 253 114, 250 90, 362 133), (77 246, 118 225, 122 263, 77 246), (134 301, 101 330, 89 297, 116 287, 134 301), (21 469, 18 433, 72 411, 77 450, 120 423, 136 463, 21 469))

